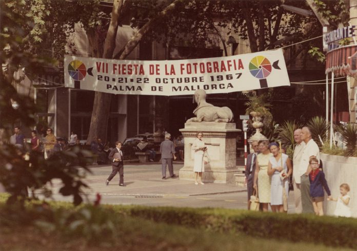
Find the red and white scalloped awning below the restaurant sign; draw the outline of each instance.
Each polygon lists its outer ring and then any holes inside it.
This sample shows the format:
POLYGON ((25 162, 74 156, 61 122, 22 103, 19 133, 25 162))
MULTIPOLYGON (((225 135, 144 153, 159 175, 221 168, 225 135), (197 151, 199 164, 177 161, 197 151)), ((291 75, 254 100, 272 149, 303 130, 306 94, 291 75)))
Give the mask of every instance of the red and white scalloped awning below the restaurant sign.
POLYGON ((357 76, 357 45, 334 49, 326 54, 326 70, 336 76, 357 76))

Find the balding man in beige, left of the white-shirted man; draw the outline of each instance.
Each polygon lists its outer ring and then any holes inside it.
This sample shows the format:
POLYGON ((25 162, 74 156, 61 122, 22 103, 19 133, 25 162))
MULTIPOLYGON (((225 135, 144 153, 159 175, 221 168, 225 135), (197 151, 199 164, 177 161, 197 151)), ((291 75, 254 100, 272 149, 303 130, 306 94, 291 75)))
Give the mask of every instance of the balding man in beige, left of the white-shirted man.
POLYGON ((301 129, 296 129, 294 131, 295 149, 294 156, 292 158, 293 162, 293 172, 292 172, 292 184, 294 186, 294 197, 295 197, 295 214, 301 214, 303 212, 303 207, 301 205, 301 192, 300 192, 300 172, 299 165, 301 157, 303 155, 303 149, 305 147, 305 142, 301 139, 301 129))

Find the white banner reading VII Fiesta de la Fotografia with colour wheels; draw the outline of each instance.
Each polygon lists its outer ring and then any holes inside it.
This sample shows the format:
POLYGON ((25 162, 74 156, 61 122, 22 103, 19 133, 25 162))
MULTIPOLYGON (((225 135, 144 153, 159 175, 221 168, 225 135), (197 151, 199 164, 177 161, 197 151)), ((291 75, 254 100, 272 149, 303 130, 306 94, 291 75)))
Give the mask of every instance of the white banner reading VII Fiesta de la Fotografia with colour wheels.
POLYGON ((281 49, 185 60, 65 56, 65 87, 113 94, 187 95, 290 86, 281 49))

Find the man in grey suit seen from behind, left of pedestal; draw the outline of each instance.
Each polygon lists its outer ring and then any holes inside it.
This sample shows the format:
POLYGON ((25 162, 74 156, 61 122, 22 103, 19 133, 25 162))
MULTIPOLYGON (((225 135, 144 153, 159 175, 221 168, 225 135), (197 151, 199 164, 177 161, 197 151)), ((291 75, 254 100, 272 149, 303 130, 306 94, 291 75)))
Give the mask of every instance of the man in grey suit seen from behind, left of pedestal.
POLYGON ((172 158, 176 159, 175 156, 175 147, 173 142, 170 140, 171 134, 165 134, 165 140, 161 142, 160 152, 161 152, 161 161, 162 161, 162 179, 166 179, 166 165, 169 167, 170 177, 174 178, 176 175, 173 173, 172 158))

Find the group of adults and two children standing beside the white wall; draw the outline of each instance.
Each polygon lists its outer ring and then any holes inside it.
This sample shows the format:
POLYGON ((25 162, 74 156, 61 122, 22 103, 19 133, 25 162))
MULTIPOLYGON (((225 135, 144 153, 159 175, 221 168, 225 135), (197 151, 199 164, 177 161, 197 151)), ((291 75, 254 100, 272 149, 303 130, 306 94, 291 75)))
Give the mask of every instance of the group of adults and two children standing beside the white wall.
POLYGON ((281 153, 281 147, 267 140, 251 143, 253 153, 247 157, 245 175, 247 179, 248 209, 250 197, 257 192, 262 211, 268 211, 270 204, 273 212, 287 212, 289 177, 292 175, 295 213, 314 213, 324 215, 324 191, 327 200, 338 201, 336 216, 350 217, 348 184, 340 187, 341 196, 331 197, 325 175, 320 170, 320 149, 314 142, 308 127, 294 131, 296 142, 293 160, 281 153))

